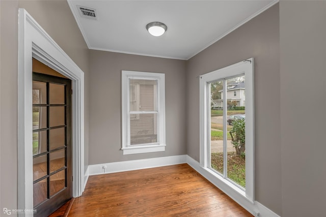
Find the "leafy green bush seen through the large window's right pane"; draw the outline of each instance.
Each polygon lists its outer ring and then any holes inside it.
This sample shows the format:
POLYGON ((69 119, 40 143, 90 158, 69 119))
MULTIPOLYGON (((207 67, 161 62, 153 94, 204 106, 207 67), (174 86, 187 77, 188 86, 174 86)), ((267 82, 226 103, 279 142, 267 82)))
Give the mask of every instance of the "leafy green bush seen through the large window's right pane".
POLYGON ((232 130, 230 131, 231 143, 235 148, 236 155, 244 157, 246 150, 246 123, 244 119, 236 119, 232 122, 232 130))

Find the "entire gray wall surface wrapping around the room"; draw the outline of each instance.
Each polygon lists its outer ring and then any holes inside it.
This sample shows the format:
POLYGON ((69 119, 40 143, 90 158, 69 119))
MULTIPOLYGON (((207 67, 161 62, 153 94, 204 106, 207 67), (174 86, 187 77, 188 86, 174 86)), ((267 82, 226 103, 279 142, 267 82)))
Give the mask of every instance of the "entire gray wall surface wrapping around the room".
POLYGON ((0 1, 1 208, 17 208, 19 194, 19 7, 27 9, 86 73, 86 164, 88 159, 89 164, 99 164, 178 154, 188 154, 199 161, 196 77, 254 57, 256 200, 282 216, 324 215, 325 1, 281 1, 188 61, 88 51, 65 1, 0 1), (64 12, 57 16, 54 9, 64 12), (121 70, 166 73, 165 152, 123 156, 119 150, 121 70))

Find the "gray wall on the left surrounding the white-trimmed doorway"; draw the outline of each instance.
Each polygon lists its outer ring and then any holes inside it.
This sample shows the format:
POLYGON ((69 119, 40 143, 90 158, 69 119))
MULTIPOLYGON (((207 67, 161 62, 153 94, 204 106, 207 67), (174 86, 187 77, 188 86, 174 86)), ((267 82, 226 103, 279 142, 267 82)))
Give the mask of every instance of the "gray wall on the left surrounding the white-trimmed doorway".
MULTIPOLYGON (((0 1, 1 4, 1 210, 17 208, 18 8, 25 8, 85 72, 85 163, 88 165, 89 50, 66 1, 0 1), (59 16, 57 10, 62 11, 59 16)), ((13 214, 12 214, 13 215, 13 214)))

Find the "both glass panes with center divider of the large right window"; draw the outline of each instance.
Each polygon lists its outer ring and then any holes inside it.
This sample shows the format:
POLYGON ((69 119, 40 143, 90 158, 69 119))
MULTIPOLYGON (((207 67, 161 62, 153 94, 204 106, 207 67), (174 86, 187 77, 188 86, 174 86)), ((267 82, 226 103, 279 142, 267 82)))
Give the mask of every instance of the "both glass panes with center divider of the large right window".
POLYGON ((246 188, 246 88, 243 74, 209 82, 209 167, 246 188))

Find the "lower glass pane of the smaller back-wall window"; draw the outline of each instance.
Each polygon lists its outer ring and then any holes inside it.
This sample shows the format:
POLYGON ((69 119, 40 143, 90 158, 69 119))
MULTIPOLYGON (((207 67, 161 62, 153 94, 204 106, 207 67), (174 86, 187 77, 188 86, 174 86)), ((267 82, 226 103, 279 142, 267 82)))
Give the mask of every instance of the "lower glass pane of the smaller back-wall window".
POLYGON ((139 114, 138 119, 130 119, 131 145, 157 141, 157 114, 139 114))

